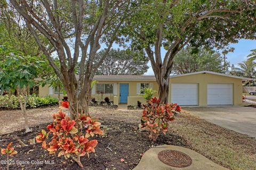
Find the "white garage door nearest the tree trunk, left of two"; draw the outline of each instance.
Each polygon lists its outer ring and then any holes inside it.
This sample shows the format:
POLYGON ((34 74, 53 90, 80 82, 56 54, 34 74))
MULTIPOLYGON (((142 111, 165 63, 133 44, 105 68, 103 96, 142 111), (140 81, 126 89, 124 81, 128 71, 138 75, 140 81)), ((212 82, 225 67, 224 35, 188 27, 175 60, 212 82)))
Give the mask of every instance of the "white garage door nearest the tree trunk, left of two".
POLYGON ((173 83, 172 103, 198 105, 198 84, 173 83))

